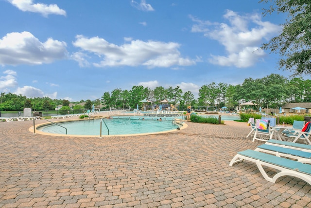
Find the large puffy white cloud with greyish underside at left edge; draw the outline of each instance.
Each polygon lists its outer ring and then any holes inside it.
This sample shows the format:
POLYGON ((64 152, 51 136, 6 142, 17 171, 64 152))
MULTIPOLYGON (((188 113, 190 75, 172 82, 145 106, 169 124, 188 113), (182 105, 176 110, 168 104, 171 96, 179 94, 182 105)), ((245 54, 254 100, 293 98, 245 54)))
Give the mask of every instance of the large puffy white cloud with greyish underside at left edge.
POLYGON ((43 64, 67 57, 66 43, 48 38, 40 42, 29 32, 8 33, 0 39, 0 64, 43 64))

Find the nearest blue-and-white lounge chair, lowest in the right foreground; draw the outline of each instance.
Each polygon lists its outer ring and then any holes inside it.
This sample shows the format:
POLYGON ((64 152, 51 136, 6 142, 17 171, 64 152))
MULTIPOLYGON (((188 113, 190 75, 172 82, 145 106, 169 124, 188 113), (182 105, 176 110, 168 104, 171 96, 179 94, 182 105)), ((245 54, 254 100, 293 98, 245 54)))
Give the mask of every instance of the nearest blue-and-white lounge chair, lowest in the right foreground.
POLYGON ((233 166, 235 163, 242 162, 243 160, 256 163, 262 176, 272 183, 276 183, 276 180, 281 176, 294 176, 306 181, 311 185, 311 165, 304 164, 291 159, 277 157, 275 155, 245 150, 238 152, 231 160, 229 166, 233 166), (272 169, 279 170, 275 175, 270 177, 262 166, 266 166, 272 169))

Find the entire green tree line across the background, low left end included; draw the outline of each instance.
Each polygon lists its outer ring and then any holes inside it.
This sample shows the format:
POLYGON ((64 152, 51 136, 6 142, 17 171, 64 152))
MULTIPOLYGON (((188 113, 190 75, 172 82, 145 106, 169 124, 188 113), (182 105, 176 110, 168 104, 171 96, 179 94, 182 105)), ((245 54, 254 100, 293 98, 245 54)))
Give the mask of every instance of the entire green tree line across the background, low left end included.
MULTIPOLYGON (((74 110, 91 110, 103 106, 102 109, 134 109, 143 103, 139 101, 148 99, 152 104, 167 99, 170 104, 178 106, 179 110, 185 110, 187 106, 194 108, 213 106, 217 109, 226 106, 234 108, 241 103, 252 101, 257 104, 256 108, 279 108, 287 102, 311 102, 311 80, 294 77, 287 79, 278 74, 271 74, 263 78, 246 78, 242 84, 231 85, 227 83, 206 84, 201 86, 198 98, 195 99, 190 91, 183 92, 179 86, 164 88, 162 86, 150 89, 143 86, 133 86, 131 90, 116 88, 111 92, 104 92, 101 99, 80 100, 72 102, 84 105, 75 105, 74 110), (102 105, 101 105, 102 104, 102 105)), ((69 101, 66 99, 51 99, 49 97, 27 98, 23 95, 1 93, 0 111, 22 110, 54 110, 56 106, 63 105, 61 110, 69 110, 69 101)), ((146 104, 145 104, 146 105, 146 104)))

